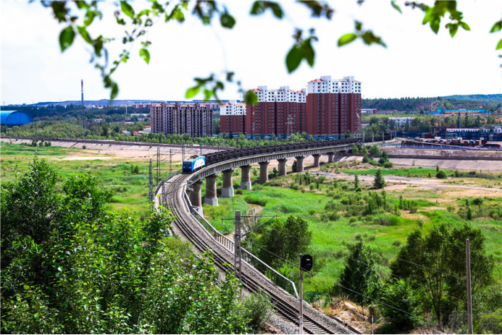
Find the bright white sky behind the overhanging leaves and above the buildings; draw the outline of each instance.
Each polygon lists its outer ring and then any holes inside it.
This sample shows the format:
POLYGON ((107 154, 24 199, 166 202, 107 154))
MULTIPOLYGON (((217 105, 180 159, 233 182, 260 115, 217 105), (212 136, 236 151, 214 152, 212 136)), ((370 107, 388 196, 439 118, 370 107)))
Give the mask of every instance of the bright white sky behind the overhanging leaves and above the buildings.
MULTIPOLYGON (((150 64, 139 57, 140 41, 122 45, 125 28, 115 23, 113 2, 100 4, 103 19, 93 23, 90 33, 117 38, 108 46, 110 59, 117 59, 124 48, 130 50, 130 60, 113 74, 120 88, 117 98, 130 101, 186 100, 186 89, 194 86, 195 77, 213 73, 224 79, 225 70, 235 72, 234 79, 244 89, 265 85, 297 90, 312 79, 331 75, 333 79, 355 76, 362 82, 364 98, 500 93, 502 50, 497 52, 495 47, 502 32, 489 30, 502 18, 502 1, 458 2, 471 31, 460 29, 451 38, 444 28, 448 20, 443 19, 435 35, 422 25, 423 12, 405 6, 404 0, 397 1, 402 14, 390 1, 367 0, 361 6, 355 0, 329 1, 335 9, 331 21, 312 18, 305 6, 294 1, 280 1, 286 13, 282 20, 270 12, 250 16, 253 1, 222 1, 219 5, 236 18, 232 30, 222 28, 217 19, 202 25, 190 13, 184 23, 159 21, 146 35, 152 42, 150 64), (387 48, 363 45, 360 40, 337 47, 338 38, 353 31, 355 20, 381 36, 387 48), (285 56, 295 28, 304 32, 315 28, 319 41, 314 42, 314 67, 303 62, 288 74, 285 56)), ((146 6, 144 1, 131 4, 136 11, 146 6)), ((38 2, 0 0, 0 21, 2 105, 80 100, 81 79, 86 100, 110 96, 101 74, 89 62, 91 49, 84 40, 76 38, 72 47, 60 51, 59 32, 65 25, 57 23, 50 9, 38 2)), ((238 87, 226 84, 219 97, 240 98, 238 87)))

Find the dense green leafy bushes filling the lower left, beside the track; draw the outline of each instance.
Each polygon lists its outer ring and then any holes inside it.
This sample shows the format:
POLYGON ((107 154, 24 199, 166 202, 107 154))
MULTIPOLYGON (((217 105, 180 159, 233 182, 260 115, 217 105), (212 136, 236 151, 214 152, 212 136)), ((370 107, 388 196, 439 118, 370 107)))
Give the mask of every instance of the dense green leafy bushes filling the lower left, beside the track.
POLYGON ((1 190, 2 332, 241 334, 270 318, 266 298, 241 300, 210 254, 169 236, 169 210, 141 222, 108 208, 95 176, 59 191, 57 178, 35 157, 1 190))

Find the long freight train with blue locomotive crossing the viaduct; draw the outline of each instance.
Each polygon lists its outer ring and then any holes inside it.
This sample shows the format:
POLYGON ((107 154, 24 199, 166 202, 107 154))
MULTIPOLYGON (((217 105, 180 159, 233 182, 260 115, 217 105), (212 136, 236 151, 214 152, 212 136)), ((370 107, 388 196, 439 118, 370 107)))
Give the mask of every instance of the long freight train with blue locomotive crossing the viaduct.
MULTIPOLYGON (((385 135, 384 140, 392 140, 394 136, 385 135)), ((382 136, 366 137, 365 143, 371 143, 372 141, 381 142, 382 136)), ((319 147, 333 147, 342 144, 363 144, 362 138, 351 138, 342 140, 328 140, 328 141, 316 141, 316 142, 302 142, 302 143, 288 143, 288 144, 276 144, 268 145, 262 147, 250 147, 250 148, 240 148, 240 149, 230 149, 223 152, 214 152, 212 154, 207 154, 206 156, 193 156, 190 159, 183 161, 183 174, 191 174, 195 171, 202 169, 204 166, 209 166, 211 164, 219 163, 220 161, 227 161, 229 159, 236 159, 239 157, 247 157, 255 154, 273 154, 275 152, 284 152, 295 149, 314 149, 319 147)))

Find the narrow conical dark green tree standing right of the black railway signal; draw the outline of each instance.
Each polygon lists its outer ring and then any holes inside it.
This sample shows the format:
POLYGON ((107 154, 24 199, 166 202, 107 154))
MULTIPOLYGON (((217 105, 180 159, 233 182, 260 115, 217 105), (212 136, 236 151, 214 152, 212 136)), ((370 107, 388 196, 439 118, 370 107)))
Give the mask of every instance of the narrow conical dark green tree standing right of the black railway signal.
POLYGON ((340 276, 340 285, 349 290, 346 291, 350 299, 360 305, 366 302, 366 298, 352 291, 362 293, 370 297, 376 297, 382 282, 375 270, 375 261, 372 257, 372 249, 365 246, 362 240, 348 246, 349 256, 345 262, 345 268, 340 276))

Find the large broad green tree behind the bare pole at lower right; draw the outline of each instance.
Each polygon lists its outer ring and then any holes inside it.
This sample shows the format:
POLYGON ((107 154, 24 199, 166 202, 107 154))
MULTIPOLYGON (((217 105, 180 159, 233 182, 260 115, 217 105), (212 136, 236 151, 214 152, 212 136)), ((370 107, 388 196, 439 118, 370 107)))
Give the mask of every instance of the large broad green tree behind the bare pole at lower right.
POLYGON ((492 283, 494 258, 486 254, 484 234, 471 225, 464 224, 453 229, 437 225, 426 236, 421 229, 416 229, 409 234, 398 259, 390 266, 392 274, 398 278, 408 278, 425 286, 423 295, 426 305, 431 306, 438 322, 447 322, 447 315, 459 308, 459 301, 452 297, 466 299, 466 239, 471 243, 472 295, 475 296, 483 285, 492 283))

